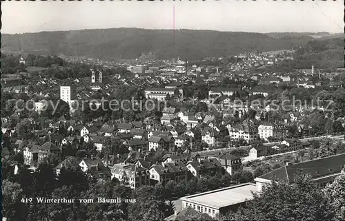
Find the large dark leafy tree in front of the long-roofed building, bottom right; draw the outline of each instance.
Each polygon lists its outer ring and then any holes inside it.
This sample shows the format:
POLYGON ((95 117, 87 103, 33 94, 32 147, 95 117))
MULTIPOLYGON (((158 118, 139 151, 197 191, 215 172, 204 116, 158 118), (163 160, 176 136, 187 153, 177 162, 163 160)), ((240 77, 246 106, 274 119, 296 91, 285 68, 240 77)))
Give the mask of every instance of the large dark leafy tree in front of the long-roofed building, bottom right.
POLYGON ((273 180, 253 194, 248 208, 240 208, 230 220, 330 220, 331 205, 311 176, 296 174, 294 183, 273 180))

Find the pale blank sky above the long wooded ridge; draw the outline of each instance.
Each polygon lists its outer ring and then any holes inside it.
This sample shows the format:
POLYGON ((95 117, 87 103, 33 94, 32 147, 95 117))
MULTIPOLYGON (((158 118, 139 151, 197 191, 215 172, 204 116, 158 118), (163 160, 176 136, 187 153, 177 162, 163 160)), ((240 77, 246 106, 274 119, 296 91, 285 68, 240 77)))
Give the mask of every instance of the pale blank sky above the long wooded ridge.
POLYGON ((174 26, 260 33, 344 32, 344 1, 339 0, 3 1, 1 10, 3 34, 174 26))

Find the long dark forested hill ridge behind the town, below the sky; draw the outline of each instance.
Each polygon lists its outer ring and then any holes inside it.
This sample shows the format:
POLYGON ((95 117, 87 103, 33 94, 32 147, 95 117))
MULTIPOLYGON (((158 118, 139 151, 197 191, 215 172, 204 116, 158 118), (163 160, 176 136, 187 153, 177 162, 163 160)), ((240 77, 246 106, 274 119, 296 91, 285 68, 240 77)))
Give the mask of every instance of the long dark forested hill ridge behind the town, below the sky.
POLYGON ((211 30, 144 30, 111 28, 2 34, 5 53, 63 54, 97 59, 135 59, 148 52, 157 59, 204 59, 209 56, 235 55, 297 48, 313 37, 302 35, 277 37, 277 34, 217 32, 211 30))

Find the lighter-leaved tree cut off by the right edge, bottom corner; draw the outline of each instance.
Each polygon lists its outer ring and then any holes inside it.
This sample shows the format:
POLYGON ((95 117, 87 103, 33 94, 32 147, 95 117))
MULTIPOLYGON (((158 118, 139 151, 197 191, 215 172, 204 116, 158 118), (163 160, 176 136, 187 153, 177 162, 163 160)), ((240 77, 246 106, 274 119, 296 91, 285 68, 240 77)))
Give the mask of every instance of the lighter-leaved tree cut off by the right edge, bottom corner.
POLYGON ((333 183, 324 188, 324 194, 335 211, 335 218, 345 220, 345 170, 342 170, 333 183))

